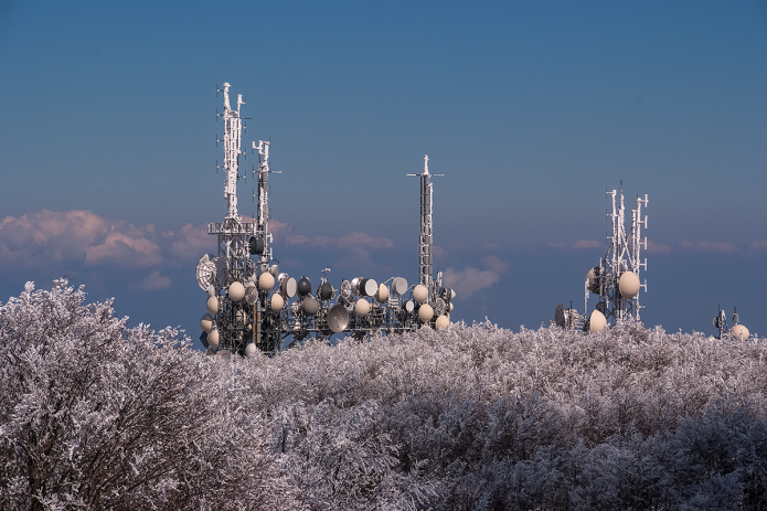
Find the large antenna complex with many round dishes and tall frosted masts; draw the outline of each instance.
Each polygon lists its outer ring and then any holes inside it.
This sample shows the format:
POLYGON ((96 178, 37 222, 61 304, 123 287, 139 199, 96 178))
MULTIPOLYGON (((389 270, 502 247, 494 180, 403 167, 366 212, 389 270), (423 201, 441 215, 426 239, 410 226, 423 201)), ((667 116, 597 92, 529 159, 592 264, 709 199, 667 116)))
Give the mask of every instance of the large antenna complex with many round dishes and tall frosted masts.
POLYGON ((253 219, 237 213, 238 158, 245 103, 237 95, 237 109, 230 105, 230 84, 224 95, 224 196, 227 211, 222 223, 211 223, 209 234, 219 236, 219 254, 205 254, 196 267, 200 287, 206 291, 209 313, 201 327, 203 345, 210 353, 274 354, 286 340, 291 345, 309 338, 329 340, 334 334, 362 340, 371 333, 412 331, 425 326, 447 328, 456 294, 441 287, 441 274, 432 268, 433 188, 428 156, 420 174, 419 284, 408 286, 402 277, 377 284, 372 278, 342 280, 335 289, 328 281, 330 268, 322 270, 319 286, 310 280, 280 273, 273 257, 269 232, 270 142, 252 142, 258 152, 257 213, 253 219), (254 260, 255 259, 255 260, 254 260), (312 292, 313 291, 313 292, 312 292))

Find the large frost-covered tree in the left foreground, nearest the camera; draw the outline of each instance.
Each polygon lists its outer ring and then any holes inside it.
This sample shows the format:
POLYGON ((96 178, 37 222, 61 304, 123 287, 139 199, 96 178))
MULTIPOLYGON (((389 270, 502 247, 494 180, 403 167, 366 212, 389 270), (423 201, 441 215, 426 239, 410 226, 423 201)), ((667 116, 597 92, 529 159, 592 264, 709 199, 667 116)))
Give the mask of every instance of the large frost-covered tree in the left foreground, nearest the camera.
POLYGON ((0 308, 3 508, 270 503, 264 422, 233 377, 175 330, 126 329, 111 301, 84 299, 28 284, 0 308))

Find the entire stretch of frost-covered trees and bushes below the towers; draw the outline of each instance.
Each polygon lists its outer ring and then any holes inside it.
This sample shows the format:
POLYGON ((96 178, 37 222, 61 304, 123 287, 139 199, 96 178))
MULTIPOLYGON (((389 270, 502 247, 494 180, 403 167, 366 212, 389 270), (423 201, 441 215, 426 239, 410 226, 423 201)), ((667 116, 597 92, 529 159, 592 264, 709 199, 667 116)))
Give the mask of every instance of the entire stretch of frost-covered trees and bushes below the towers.
POLYGON ((206 356, 0 306, 3 509, 767 508, 767 343, 491 323, 206 356))

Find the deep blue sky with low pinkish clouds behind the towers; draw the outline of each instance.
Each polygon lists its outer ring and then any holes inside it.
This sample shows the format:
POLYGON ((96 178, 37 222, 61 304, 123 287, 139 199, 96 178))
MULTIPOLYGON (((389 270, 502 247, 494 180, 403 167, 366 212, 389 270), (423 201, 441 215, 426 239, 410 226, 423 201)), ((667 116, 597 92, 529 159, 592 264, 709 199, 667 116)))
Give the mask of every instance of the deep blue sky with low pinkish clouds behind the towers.
POLYGON ((223 82, 283 171, 286 272, 415 281, 428 153, 454 319, 583 309, 622 180, 650 199, 646 324, 737 306, 767 336, 765 1, 2 1, 0 300, 68 275, 196 338, 223 82))

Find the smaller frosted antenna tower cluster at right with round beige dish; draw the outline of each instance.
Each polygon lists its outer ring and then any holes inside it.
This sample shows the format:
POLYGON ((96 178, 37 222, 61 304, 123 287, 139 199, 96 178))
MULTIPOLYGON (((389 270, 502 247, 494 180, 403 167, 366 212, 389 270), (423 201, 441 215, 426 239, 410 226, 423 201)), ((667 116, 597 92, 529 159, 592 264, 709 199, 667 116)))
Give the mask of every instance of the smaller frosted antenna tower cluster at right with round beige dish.
POLYGON ((641 230, 647 228, 642 206, 647 206, 648 196, 637 196, 637 209, 631 210, 631 230, 627 235, 622 183, 619 191, 608 191, 607 195, 612 205, 611 213, 607 213, 612 231, 607 236, 609 244, 605 258, 599 259, 599 266, 592 268, 586 276, 584 312, 588 312, 590 291, 599 297, 596 310, 605 317, 605 322, 622 319, 639 321, 639 311, 645 308, 639 305, 639 290, 643 288, 647 292, 647 279, 640 284, 639 273, 647 270, 647 258, 642 262, 640 255, 642 248, 647 249, 647 236, 642 239, 641 230))

